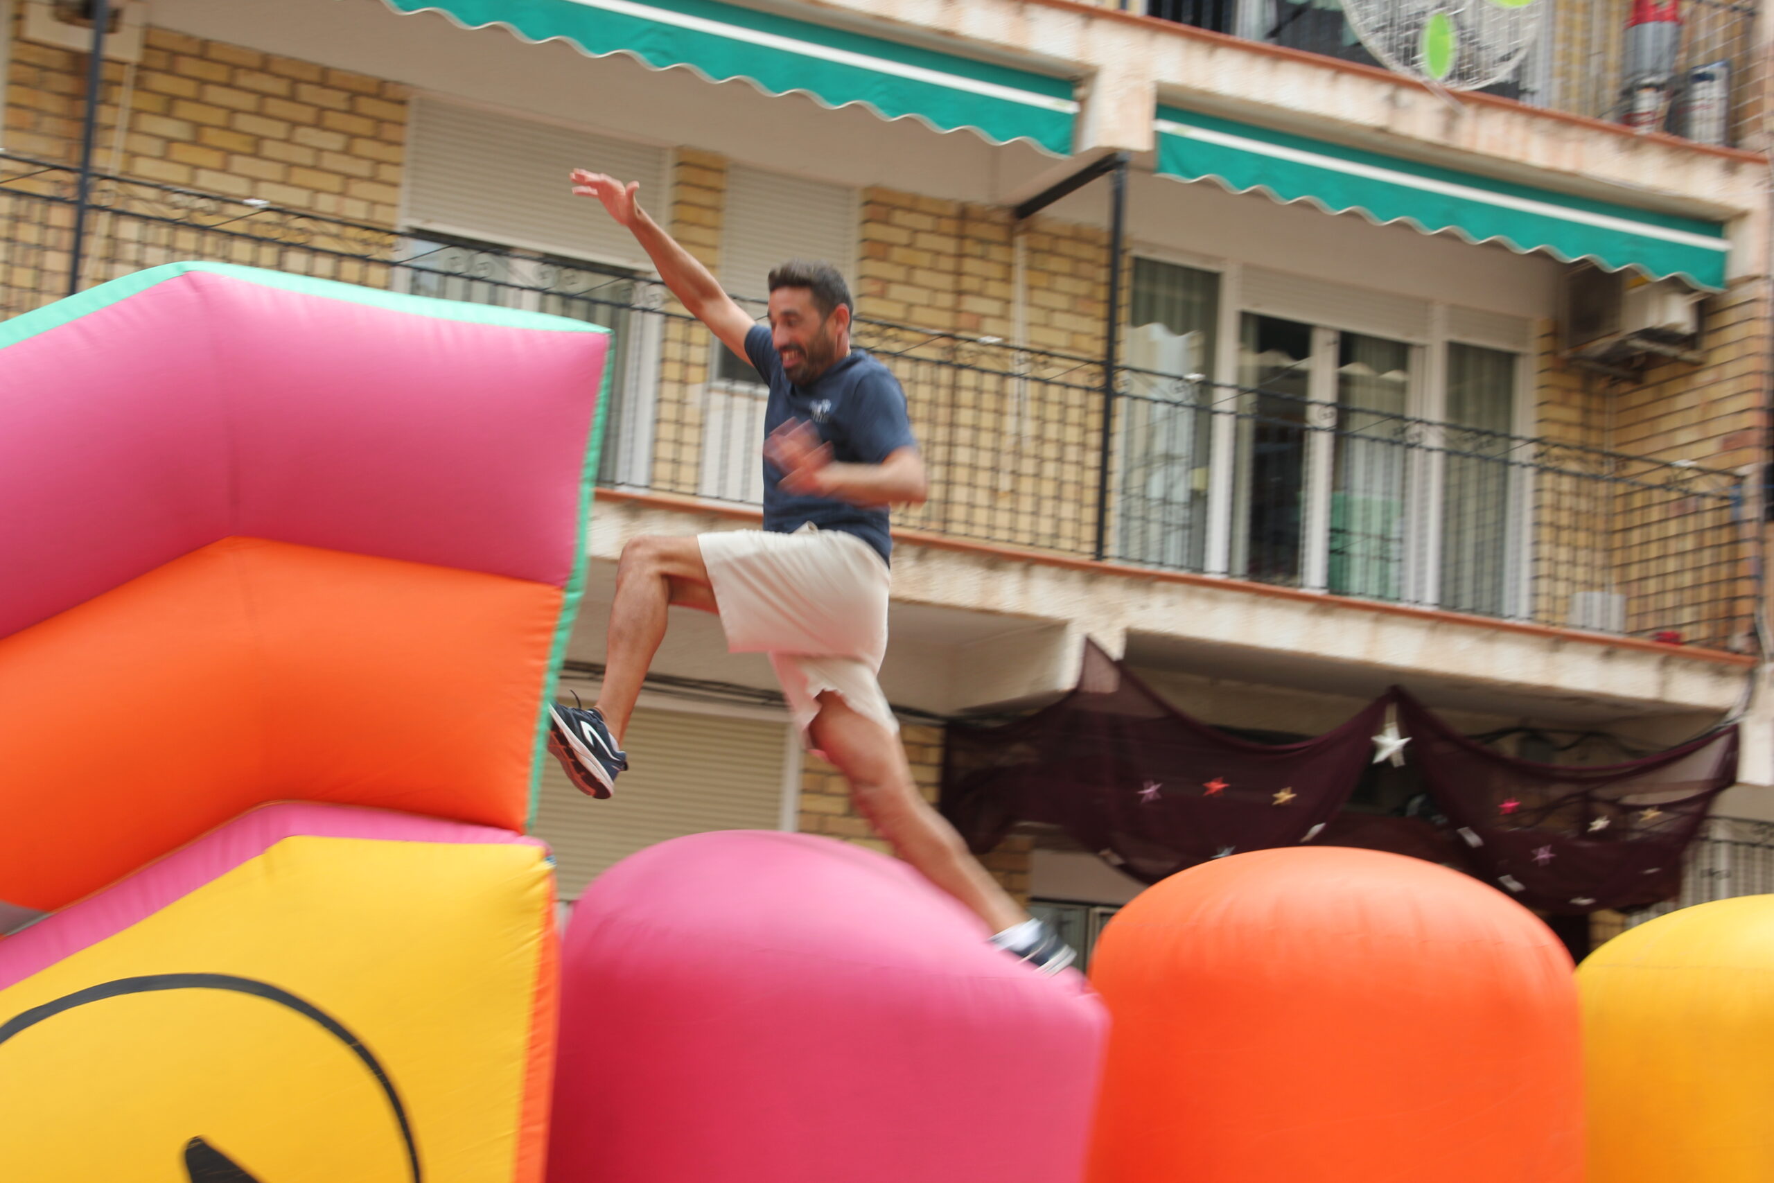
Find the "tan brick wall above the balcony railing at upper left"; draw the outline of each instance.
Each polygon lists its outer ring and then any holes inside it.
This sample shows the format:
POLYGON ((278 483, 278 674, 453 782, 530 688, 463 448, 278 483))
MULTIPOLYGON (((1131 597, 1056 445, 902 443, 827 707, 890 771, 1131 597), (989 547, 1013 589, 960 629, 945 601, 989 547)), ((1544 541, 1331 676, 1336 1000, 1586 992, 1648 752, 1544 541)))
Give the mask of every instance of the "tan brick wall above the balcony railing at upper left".
MULTIPOLYGON (((5 147, 78 160, 83 105, 85 55, 14 30, 5 147)), ((390 82, 149 28, 138 67, 105 67, 99 129, 101 170, 115 160, 124 176, 163 184, 396 220, 406 94, 390 82)))

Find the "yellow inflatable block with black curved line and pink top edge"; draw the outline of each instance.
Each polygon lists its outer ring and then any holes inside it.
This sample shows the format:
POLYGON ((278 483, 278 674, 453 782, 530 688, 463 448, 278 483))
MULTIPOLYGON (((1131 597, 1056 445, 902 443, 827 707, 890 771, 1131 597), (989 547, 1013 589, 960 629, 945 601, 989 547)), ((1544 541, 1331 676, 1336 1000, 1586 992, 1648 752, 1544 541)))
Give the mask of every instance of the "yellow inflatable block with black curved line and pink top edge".
POLYGON ((0 1179, 538 1183, 552 910, 513 834, 247 814, 0 942, 0 1179))

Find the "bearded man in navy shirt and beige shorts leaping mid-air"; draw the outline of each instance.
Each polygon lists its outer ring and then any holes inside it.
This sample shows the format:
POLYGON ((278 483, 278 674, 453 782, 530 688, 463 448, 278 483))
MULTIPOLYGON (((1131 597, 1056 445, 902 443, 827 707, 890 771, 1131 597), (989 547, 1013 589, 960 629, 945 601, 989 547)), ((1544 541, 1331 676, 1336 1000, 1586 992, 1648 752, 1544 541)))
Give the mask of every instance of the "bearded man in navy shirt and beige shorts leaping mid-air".
POLYGON ((637 537, 623 546, 610 605, 603 688, 591 709, 553 706, 550 750, 585 793, 608 796, 628 768, 623 733, 671 605, 720 615, 733 653, 768 653, 807 747, 850 782, 857 811, 894 853, 979 913, 992 942, 1056 974, 1073 961, 1040 921, 969 855, 912 780, 899 722, 875 676, 887 651, 887 507, 924 500, 924 459, 892 372, 850 346, 853 305, 827 262, 770 273, 770 325, 757 325, 635 202, 623 184, 577 168, 653 259, 660 278, 770 385, 765 529, 637 537))

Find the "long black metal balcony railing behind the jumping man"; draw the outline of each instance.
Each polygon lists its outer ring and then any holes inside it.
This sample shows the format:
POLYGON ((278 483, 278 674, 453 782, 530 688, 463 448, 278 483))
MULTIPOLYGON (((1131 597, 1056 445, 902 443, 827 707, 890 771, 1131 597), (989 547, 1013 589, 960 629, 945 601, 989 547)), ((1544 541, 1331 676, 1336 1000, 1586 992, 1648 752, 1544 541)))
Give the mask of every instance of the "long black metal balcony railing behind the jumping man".
MULTIPOLYGON (((69 168, 0 161, 0 319, 66 294, 73 223, 69 168)), ((761 497, 763 390, 658 284, 99 179, 83 286, 177 259, 608 325, 600 484, 708 505, 761 497)), ((1401 401, 1378 353, 1332 355, 1327 387, 1268 342, 1249 385, 1221 387, 1132 367, 1111 383, 1102 358, 867 319, 857 341, 899 376, 922 438, 930 502, 898 516, 914 539, 1747 649, 1737 474, 1513 435, 1483 415, 1412 419, 1389 410, 1401 401)))

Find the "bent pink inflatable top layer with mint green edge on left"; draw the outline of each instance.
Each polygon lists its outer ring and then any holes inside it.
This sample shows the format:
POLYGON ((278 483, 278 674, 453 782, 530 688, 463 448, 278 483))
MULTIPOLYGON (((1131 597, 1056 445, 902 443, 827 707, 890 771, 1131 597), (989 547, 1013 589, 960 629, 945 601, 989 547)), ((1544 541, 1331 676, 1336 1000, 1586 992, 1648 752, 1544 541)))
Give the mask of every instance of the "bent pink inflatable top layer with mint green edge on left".
POLYGON ((224 537, 564 587, 608 333, 169 262, 0 325, 0 637, 224 537), (28 576, 28 578, 23 578, 28 576))

